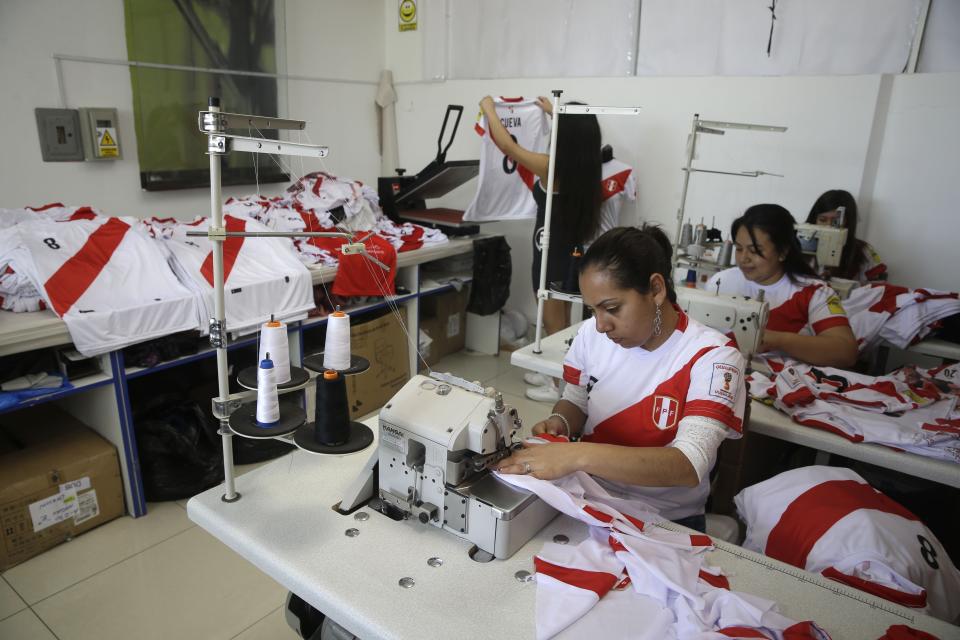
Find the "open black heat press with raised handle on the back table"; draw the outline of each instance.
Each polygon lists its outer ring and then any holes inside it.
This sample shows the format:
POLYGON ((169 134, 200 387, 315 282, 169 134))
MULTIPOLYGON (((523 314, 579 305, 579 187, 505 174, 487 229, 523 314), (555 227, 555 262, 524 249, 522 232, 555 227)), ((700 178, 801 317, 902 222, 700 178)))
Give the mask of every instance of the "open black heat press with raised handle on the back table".
POLYGON ((437 137, 437 157, 416 175, 404 175, 406 169, 397 169, 397 175, 377 179, 380 206, 391 220, 398 224, 415 222, 425 227, 440 229, 449 236, 473 235, 480 232, 480 225, 463 221, 463 211, 457 209, 428 208, 426 201, 439 198, 476 176, 480 172, 479 160, 447 161, 447 151, 453 144, 460 126, 463 106, 447 105, 443 125, 437 137), (444 146, 443 138, 451 113, 457 118, 444 146))

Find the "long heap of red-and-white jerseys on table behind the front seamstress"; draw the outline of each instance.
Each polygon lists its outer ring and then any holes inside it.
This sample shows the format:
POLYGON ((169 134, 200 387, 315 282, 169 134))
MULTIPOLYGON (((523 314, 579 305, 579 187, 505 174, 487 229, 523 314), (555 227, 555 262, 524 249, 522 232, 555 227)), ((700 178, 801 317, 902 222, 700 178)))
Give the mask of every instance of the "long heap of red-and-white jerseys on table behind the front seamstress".
POLYGON ((752 373, 750 393, 794 422, 960 463, 960 363, 868 376, 775 357, 766 362, 771 373, 752 373))

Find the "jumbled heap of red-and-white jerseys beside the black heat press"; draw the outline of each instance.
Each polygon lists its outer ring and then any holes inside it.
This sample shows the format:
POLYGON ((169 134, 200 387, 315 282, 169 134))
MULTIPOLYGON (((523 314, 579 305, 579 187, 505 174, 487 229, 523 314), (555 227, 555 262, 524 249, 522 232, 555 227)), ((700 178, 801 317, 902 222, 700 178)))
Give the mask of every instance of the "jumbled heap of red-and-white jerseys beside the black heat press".
MULTIPOLYGON (((391 248, 402 253, 447 242, 442 231, 397 224, 387 218, 377 192, 362 182, 323 172, 297 180, 284 196, 230 198, 224 212, 252 218, 275 231, 348 231, 357 234, 371 254, 389 254, 391 248)), ((344 242, 341 238, 297 238, 293 244, 304 264, 335 267, 343 257, 340 246, 344 242)))

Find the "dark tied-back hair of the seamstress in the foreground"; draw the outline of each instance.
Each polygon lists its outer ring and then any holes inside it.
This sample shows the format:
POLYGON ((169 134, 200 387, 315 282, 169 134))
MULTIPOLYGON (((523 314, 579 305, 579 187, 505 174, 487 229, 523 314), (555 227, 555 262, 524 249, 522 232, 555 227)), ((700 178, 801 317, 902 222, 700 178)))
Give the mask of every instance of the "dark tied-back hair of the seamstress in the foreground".
POLYGON ((667 284, 667 299, 677 301, 673 289, 670 256, 673 248, 666 234, 656 225, 616 227, 597 238, 583 258, 580 273, 587 269, 606 271, 621 289, 650 291, 650 276, 659 273, 667 284))

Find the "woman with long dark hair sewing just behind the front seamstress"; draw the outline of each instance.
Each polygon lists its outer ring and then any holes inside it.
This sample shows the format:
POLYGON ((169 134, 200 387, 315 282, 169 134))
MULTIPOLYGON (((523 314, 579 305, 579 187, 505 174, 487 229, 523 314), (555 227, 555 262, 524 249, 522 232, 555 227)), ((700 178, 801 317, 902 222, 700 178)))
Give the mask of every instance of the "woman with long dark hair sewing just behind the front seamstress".
POLYGON ((857 341, 840 297, 818 280, 800 251, 795 221, 776 204, 758 204, 730 228, 737 266, 714 274, 707 291, 756 297, 770 304, 763 351, 803 362, 848 368, 857 341))

